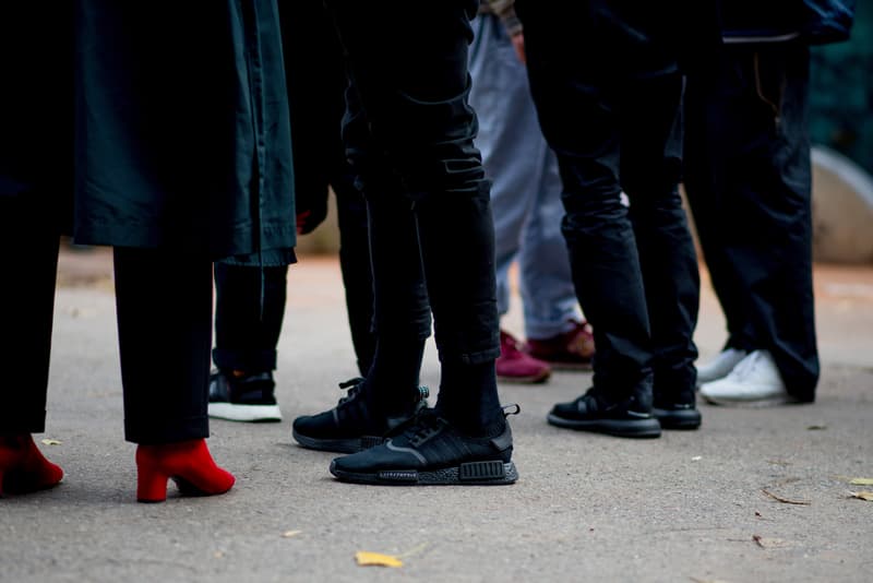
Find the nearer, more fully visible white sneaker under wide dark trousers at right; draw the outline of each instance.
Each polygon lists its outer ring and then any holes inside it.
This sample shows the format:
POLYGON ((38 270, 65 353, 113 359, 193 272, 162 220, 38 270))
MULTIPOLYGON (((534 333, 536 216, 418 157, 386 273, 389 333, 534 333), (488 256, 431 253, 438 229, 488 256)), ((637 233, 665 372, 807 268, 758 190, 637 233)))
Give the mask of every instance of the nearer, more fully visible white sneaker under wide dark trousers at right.
POLYGON ((701 385, 701 396, 716 405, 767 406, 792 401, 767 350, 754 350, 721 380, 701 385))

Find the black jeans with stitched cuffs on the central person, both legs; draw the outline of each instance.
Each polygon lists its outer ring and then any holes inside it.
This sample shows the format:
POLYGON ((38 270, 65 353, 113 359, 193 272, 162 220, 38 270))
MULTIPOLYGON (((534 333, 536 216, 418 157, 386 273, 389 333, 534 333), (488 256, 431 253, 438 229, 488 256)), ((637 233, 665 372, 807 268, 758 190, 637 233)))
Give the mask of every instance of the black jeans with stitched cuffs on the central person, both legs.
POLYGON ((493 224, 467 104, 478 2, 325 5, 347 51, 344 138, 367 197, 379 342, 420 340, 432 309, 442 361, 493 360, 493 224))

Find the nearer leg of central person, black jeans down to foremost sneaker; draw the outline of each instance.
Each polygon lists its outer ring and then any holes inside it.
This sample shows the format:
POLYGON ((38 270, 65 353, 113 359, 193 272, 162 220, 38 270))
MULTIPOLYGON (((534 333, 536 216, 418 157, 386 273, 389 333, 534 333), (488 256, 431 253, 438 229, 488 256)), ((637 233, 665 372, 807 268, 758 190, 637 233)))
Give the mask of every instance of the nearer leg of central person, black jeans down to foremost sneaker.
MULTIPOLYGON (((433 415, 392 438, 404 445, 337 459, 332 472, 352 481, 420 484, 439 467, 452 469, 441 473, 446 480, 441 483, 464 484, 471 474, 475 483, 512 483, 511 433, 493 365, 499 354, 493 226, 488 183, 473 144, 475 116, 466 100, 468 21, 476 2, 443 3, 439 10, 400 2, 330 5, 370 135, 415 210, 442 364, 433 415), (408 26, 391 26, 393 14, 408 26), (440 445, 458 441, 469 447, 440 445)), ((372 213, 370 219, 373 227, 372 213)), ((371 237, 379 237, 373 230, 371 237)), ((371 253, 379 306, 378 264, 390 258, 376 246, 371 253)), ((381 325, 376 310, 378 330, 381 325)))

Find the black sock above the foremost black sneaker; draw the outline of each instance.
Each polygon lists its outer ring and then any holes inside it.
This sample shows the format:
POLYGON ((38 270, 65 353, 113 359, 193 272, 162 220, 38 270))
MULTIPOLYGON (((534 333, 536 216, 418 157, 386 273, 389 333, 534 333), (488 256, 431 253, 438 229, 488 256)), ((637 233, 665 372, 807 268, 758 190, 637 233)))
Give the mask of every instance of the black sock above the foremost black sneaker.
POLYGON ((498 395, 494 361, 479 365, 443 362, 436 411, 463 432, 495 436, 505 420, 498 395))

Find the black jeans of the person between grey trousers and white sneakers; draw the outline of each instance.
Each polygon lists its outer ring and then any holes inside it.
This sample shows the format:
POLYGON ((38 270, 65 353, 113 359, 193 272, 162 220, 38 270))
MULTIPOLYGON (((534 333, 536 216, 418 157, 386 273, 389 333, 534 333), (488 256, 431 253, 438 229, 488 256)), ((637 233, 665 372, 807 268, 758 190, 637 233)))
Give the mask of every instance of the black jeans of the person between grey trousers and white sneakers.
POLYGON ((594 326, 595 388, 617 398, 654 381, 656 402, 693 396, 699 276, 678 192, 682 78, 662 59, 645 72, 598 61, 554 27, 552 10, 517 8, 564 186, 573 281, 594 326))

